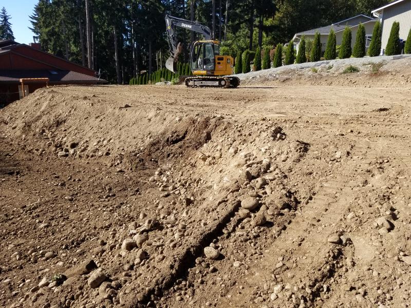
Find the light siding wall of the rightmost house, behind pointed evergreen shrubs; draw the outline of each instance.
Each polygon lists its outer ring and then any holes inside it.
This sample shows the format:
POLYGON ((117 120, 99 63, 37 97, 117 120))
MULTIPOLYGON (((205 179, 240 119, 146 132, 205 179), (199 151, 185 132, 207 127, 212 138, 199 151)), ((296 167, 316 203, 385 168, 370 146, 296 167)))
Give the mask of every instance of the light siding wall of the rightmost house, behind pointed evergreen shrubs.
POLYGON ((400 2, 391 7, 385 8, 382 14, 382 39, 381 46, 386 48, 389 33, 394 22, 400 23, 400 38, 407 39, 411 28, 411 0, 400 2))

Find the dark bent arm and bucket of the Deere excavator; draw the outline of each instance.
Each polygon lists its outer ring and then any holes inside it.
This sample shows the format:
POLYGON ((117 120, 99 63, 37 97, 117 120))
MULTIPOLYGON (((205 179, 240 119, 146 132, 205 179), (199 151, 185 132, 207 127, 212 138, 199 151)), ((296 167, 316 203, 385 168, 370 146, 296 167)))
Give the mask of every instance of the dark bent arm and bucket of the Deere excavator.
POLYGON ((203 26, 198 22, 191 22, 170 15, 165 16, 165 26, 167 29, 167 40, 169 41, 170 46, 170 57, 165 62, 165 67, 171 70, 172 72, 177 73, 178 55, 182 51, 182 46, 181 43, 176 44, 176 27, 200 33, 204 35, 204 39, 206 41, 211 40, 211 31, 209 27, 203 26))

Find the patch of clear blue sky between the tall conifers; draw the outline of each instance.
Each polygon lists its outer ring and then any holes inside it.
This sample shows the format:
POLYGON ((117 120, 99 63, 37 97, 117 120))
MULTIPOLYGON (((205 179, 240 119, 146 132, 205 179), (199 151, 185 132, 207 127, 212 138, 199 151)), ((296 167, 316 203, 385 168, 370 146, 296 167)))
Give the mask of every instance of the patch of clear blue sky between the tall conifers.
POLYGON ((38 0, 0 0, 0 10, 5 7, 7 14, 11 16, 11 29, 16 42, 28 44, 33 42, 33 32, 29 15, 33 13, 38 0))

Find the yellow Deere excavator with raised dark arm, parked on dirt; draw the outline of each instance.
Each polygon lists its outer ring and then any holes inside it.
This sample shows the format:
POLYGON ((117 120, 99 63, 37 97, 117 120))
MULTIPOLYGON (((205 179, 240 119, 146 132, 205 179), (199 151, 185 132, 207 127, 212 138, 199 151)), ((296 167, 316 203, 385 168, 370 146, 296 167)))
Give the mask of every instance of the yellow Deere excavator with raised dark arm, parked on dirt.
POLYGON ((220 55, 220 42, 213 40, 210 28, 198 22, 166 15, 165 24, 170 46, 170 57, 165 67, 177 73, 178 55, 182 45, 176 45, 176 27, 188 29, 204 35, 204 41, 194 42, 190 52, 190 68, 194 76, 185 79, 187 87, 236 88, 240 80, 230 76, 234 71, 232 56, 220 55))

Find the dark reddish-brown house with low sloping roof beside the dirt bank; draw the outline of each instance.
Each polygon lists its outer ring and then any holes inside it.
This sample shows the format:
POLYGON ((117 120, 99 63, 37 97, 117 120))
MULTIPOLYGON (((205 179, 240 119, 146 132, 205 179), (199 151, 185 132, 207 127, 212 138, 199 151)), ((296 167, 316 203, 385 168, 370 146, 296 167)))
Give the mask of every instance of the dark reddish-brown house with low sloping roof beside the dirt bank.
POLYGON ((92 69, 40 50, 40 44, 0 41, 0 105, 46 85, 105 83, 92 69))

